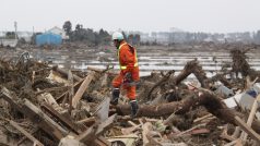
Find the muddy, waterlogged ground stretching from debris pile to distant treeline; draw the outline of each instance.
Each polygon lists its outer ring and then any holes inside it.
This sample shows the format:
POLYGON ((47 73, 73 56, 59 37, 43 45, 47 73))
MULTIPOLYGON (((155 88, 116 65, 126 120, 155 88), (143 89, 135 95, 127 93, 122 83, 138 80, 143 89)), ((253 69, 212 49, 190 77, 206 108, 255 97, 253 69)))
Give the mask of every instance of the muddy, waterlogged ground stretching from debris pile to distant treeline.
MULTIPOLYGON (((209 76, 220 71, 222 65, 231 63, 232 49, 251 49, 247 53, 247 61, 252 69, 259 70, 260 59, 258 58, 259 47, 255 45, 222 44, 210 42, 194 45, 175 45, 175 46, 140 46, 138 47, 139 64, 141 75, 150 75, 151 71, 179 72, 187 61, 198 59, 203 70, 209 76)), ((1 49, 1 57, 17 57, 24 51, 28 51, 31 58, 58 65, 59 68, 75 69, 86 71, 87 66, 106 69, 107 65, 114 65, 118 69, 116 49, 111 46, 87 47, 86 45, 66 44, 59 47, 36 47, 21 46, 16 49, 1 49)))

